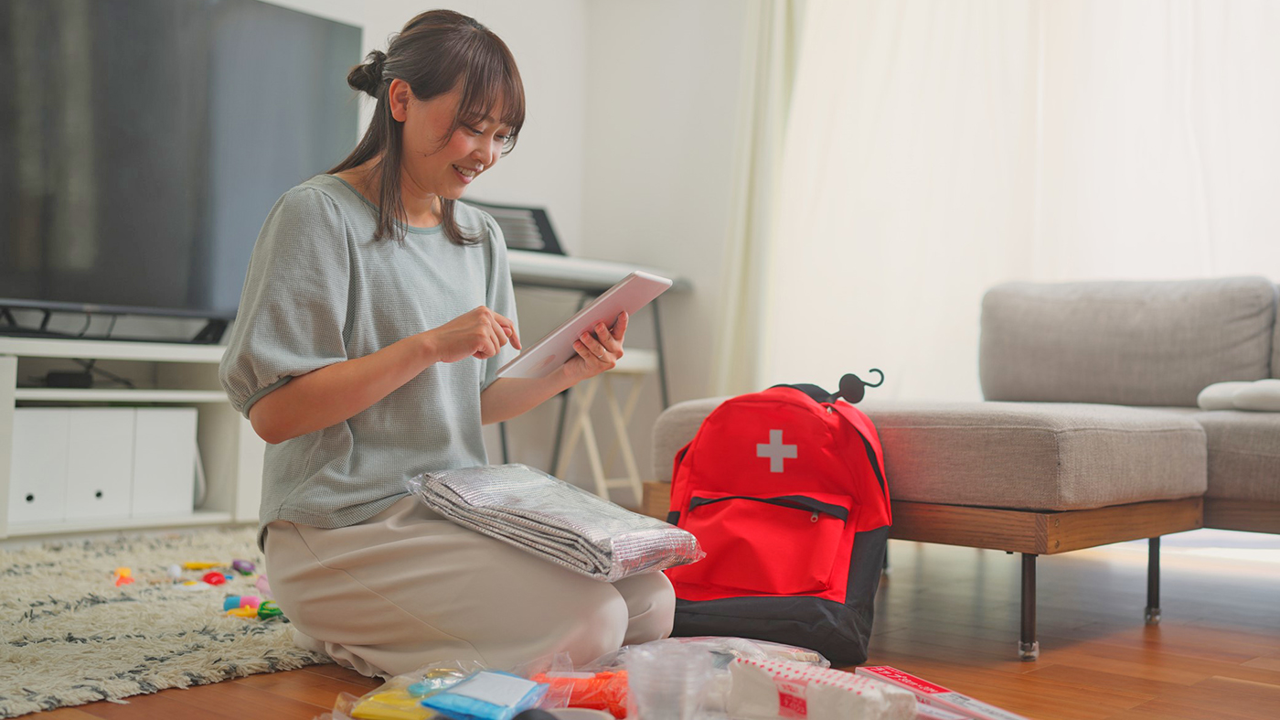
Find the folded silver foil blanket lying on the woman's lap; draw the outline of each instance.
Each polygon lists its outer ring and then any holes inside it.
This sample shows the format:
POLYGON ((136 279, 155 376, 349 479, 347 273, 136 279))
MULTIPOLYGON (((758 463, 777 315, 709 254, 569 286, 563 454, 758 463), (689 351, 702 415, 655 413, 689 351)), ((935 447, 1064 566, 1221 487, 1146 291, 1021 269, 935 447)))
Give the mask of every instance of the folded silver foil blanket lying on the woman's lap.
POLYGON ((704 556, 687 530, 527 465, 424 473, 410 480, 410 491, 465 528, 609 583, 704 556))

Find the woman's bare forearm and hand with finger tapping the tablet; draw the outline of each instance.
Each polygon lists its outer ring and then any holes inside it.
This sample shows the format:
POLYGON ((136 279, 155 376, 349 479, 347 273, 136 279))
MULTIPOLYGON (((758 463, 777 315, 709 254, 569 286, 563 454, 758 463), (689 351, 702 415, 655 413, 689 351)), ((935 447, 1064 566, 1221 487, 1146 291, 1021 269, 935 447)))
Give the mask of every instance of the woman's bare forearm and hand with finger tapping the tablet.
POLYGON ((435 363, 493 357, 508 340, 520 348, 512 322, 476 307, 364 357, 298 375, 253 404, 248 419, 273 445, 314 433, 365 411, 435 363))

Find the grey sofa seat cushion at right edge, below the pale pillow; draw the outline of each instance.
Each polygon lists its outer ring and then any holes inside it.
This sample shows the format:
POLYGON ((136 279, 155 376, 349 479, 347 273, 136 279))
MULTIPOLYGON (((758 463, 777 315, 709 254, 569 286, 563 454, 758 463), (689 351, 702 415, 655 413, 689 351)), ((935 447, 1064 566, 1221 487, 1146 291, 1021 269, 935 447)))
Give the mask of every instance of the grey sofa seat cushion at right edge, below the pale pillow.
POLYGON ((1280 502, 1280 413, 1192 415, 1208 442, 1208 492, 1220 500, 1280 502))

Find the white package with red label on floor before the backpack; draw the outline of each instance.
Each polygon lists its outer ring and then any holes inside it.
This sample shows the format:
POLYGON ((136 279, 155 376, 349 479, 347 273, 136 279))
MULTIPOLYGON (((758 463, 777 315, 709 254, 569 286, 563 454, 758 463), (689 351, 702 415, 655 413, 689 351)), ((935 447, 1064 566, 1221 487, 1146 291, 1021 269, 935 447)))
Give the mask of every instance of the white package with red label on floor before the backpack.
POLYGON ((728 714, 744 720, 915 720, 915 696, 887 683, 783 660, 735 660, 728 714))

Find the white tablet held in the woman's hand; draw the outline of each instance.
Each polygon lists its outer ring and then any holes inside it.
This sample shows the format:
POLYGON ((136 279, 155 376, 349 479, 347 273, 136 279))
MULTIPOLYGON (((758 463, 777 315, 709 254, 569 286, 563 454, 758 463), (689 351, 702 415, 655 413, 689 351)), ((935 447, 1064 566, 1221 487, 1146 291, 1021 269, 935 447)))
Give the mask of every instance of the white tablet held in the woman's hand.
MULTIPOLYGON (((671 281, 649 273, 636 270, 618 281, 618 284, 604 291, 590 305, 582 307, 576 315, 564 320, 558 328, 547 333, 547 337, 526 348, 515 360, 498 369, 499 378, 541 378, 549 375, 556 368, 568 363, 577 355, 573 350, 573 341, 584 332, 589 332, 596 323, 604 323, 611 329, 618 314, 623 310, 627 315, 635 315, 645 305, 658 297, 671 287, 671 281)), ((593 333, 594 334, 594 333, 593 333)))

